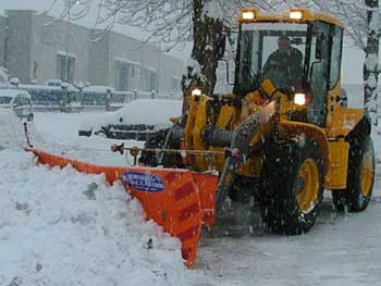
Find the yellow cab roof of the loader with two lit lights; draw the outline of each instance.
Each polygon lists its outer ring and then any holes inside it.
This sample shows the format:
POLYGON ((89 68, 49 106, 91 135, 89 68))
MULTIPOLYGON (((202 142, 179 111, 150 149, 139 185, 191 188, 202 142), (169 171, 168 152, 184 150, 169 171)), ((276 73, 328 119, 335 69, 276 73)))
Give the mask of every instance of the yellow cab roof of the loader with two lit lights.
POLYGON ((258 23, 258 22, 308 23, 308 22, 322 21, 322 22, 327 22, 329 24, 333 24, 344 28, 344 24, 337 18, 327 14, 316 13, 308 9, 303 9, 303 8, 293 8, 286 11, 285 13, 278 13, 278 14, 260 11, 259 9, 255 9, 255 8, 244 8, 239 13, 238 21, 241 23, 258 23), (254 15, 253 18, 244 16, 245 13, 251 13, 251 12, 254 15))

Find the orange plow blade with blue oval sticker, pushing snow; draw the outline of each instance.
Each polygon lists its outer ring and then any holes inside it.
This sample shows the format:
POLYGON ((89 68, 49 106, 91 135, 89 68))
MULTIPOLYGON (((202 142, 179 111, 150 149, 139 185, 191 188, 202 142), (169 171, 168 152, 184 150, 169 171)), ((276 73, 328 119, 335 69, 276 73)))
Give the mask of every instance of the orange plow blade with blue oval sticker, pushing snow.
POLYGON ((142 202, 146 219, 152 219, 181 240, 188 266, 196 259, 201 225, 214 222, 217 175, 181 169, 100 166, 35 148, 26 151, 34 152, 40 164, 61 167, 70 164, 83 173, 103 173, 110 184, 121 179, 126 190, 142 202))

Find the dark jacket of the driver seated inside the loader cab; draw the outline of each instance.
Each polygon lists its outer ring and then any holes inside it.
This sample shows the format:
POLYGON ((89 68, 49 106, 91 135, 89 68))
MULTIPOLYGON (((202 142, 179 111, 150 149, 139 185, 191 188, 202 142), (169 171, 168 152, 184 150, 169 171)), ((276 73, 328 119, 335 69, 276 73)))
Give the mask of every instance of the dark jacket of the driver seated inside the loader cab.
POLYGON ((293 47, 270 54, 263 66, 265 78, 279 89, 295 90, 302 87, 303 53, 293 47))

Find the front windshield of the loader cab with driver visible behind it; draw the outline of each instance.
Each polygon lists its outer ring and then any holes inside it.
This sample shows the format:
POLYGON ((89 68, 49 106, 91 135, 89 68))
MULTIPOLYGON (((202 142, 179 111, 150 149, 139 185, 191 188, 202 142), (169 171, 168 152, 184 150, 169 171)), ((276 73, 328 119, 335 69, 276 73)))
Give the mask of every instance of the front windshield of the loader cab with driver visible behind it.
POLYGON ((307 24, 243 24, 236 71, 236 94, 258 88, 265 78, 279 89, 302 85, 307 24))

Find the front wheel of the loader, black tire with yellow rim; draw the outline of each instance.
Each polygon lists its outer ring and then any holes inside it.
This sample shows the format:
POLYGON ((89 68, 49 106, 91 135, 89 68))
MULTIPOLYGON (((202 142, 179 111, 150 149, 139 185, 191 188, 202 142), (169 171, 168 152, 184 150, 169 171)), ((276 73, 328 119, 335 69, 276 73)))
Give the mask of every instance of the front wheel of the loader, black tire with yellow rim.
POLYGON ((274 146, 263 159, 259 196, 263 223, 276 234, 298 235, 315 224, 323 195, 323 160, 316 141, 274 146))

